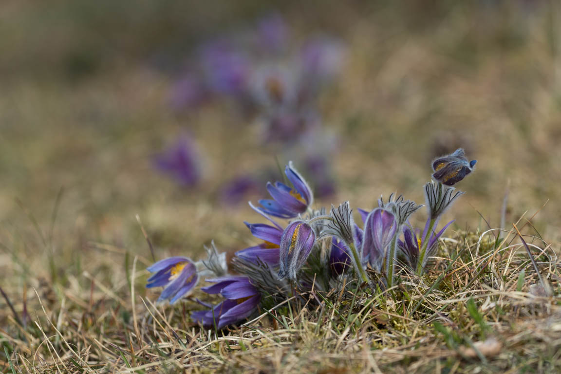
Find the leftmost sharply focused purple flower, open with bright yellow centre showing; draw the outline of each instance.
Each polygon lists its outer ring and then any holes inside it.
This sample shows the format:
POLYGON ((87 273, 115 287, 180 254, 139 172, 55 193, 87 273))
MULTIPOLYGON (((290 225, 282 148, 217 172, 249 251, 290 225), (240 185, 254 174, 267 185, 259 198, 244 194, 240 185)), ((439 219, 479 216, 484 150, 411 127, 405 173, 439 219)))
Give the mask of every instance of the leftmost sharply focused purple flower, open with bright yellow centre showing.
POLYGON ((169 300, 171 304, 186 296, 199 281, 197 268, 187 257, 165 258, 146 270, 156 273, 148 278, 146 288, 164 287, 158 301, 169 300))

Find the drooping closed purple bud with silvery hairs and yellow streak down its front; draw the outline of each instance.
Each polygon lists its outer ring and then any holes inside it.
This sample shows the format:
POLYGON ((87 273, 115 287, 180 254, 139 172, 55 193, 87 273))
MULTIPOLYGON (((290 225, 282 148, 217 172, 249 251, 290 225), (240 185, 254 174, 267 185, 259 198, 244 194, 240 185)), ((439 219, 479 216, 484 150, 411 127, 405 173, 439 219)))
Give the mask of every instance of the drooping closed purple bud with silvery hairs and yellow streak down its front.
POLYGON ((296 273, 304 266, 314 243, 314 230, 304 221, 294 221, 284 229, 280 238, 279 279, 296 280, 296 273))

